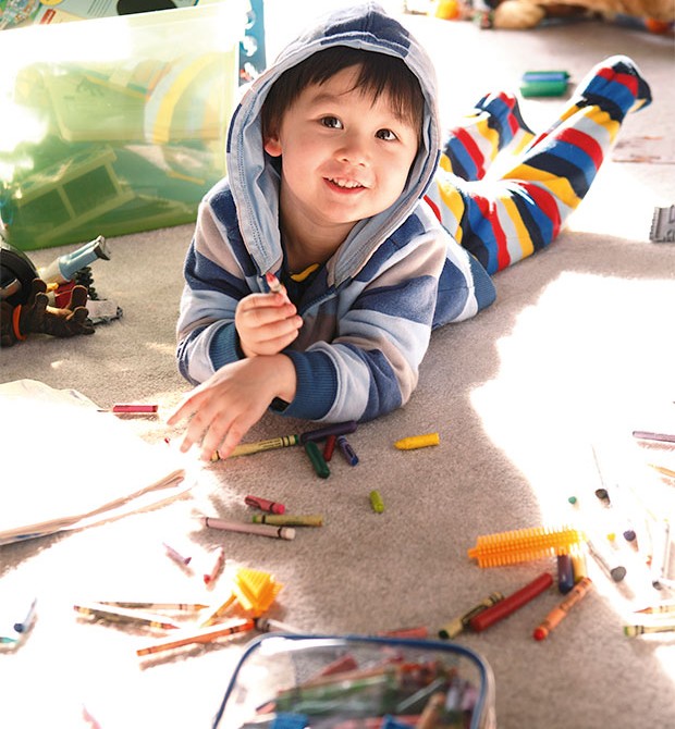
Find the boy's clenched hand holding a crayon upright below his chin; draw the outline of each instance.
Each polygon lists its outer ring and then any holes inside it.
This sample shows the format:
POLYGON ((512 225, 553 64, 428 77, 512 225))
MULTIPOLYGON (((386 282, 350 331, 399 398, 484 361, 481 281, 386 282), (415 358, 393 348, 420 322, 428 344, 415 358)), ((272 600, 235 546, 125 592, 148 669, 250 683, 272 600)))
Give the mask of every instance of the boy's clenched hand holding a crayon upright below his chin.
POLYGON ((269 294, 249 294, 237 305, 234 325, 246 357, 275 355, 297 336, 303 320, 285 289, 269 294))

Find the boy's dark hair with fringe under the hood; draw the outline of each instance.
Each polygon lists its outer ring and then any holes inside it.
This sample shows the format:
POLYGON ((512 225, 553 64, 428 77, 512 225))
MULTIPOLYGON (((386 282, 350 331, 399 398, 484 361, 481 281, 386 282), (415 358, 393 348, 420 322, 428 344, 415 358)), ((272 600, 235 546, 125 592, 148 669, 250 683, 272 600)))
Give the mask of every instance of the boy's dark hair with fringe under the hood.
POLYGON ((307 86, 323 84, 344 69, 355 65, 360 66, 355 88, 363 94, 372 94, 375 99, 382 92, 388 94, 396 116, 409 122, 421 137, 425 99, 417 77, 404 61, 386 53, 334 46, 312 53, 284 71, 274 82, 262 104, 263 138, 277 132, 284 112, 307 86))

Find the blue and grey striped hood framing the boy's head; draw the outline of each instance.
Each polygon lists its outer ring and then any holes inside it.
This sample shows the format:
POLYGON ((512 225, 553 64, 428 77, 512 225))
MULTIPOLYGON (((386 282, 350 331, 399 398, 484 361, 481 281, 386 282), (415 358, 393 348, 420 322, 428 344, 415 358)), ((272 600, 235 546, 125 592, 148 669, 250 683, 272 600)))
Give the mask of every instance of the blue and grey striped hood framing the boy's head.
POLYGON ((418 78, 424 98, 424 129, 417 158, 398 200, 360 221, 327 263, 329 284, 340 285, 366 263, 377 246, 409 215, 437 170, 441 147, 435 73, 419 42, 375 2, 332 12, 291 42, 244 95, 230 123, 228 176, 244 242, 260 273, 282 262, 279 233, 279 174, 262 146, 260 111, 279 76, 320 50, 349 46, 401 58, 418 78))

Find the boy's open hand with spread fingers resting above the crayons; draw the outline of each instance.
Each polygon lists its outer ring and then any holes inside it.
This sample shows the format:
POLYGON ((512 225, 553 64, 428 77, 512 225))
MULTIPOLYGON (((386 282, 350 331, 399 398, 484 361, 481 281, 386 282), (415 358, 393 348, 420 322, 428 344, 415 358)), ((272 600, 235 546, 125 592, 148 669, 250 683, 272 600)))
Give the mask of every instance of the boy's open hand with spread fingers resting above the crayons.
POLYGON ((210 460, 214 450, 226 458, 274 397, 290 401, 295 387, 295 367, 285 355, 242 359, 225 364, 193 390, 167 424, 189 419, 181 443, 183 453, 200 443, 202 460, 210 460))

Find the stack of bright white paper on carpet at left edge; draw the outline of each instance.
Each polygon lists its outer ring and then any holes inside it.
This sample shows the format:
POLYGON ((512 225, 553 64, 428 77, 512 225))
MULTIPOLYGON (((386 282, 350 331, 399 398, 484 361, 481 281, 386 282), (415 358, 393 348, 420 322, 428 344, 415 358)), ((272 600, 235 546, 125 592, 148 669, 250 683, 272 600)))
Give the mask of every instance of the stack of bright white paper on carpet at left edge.
POLYGON ((75 391, 0 385, 0 544, 156 506, 185 493, 185 460, 75 391))

